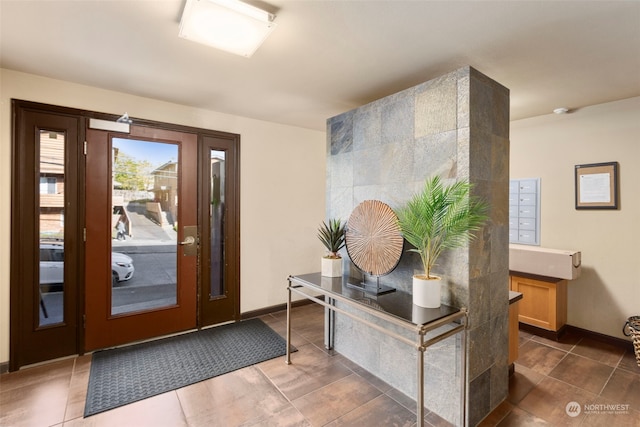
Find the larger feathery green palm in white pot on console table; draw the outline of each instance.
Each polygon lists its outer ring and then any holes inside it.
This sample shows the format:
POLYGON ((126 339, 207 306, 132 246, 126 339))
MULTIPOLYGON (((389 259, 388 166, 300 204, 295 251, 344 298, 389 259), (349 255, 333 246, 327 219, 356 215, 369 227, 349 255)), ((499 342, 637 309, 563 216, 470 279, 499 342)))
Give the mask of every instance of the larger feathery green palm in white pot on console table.
POLYGON ((440 307, 441 278, 433 266, 444 250, 466 245, 488 219, 487 204, 471 197, 471 188, 466 180, 444 185, 436 175, 397 212, 402 234, 414 246, 409 251, 420 255, 424 271, 413 276, 415 305, 440 307))

